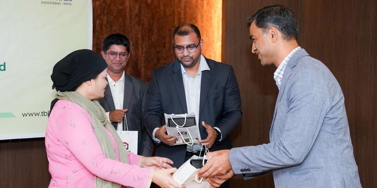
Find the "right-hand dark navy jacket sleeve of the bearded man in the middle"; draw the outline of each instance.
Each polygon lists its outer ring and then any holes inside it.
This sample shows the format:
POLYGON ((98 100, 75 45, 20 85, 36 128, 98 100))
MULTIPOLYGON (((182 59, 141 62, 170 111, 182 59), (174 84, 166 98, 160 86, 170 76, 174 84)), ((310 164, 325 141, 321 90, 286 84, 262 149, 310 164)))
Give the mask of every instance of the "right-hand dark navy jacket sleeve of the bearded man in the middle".
POLYGON ((229 69, 228 73, 223 108, 221 121, 216 125, 221 130, 221 141, 230 134, 242 119, 241 95, 233 67, 229 69))

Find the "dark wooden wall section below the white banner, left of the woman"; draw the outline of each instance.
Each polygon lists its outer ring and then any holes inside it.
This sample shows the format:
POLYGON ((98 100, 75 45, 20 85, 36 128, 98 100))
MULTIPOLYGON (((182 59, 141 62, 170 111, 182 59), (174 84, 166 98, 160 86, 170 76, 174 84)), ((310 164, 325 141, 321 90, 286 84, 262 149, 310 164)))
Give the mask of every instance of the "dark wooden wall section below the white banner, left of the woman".
POLYGON ((51 176, 44 138, 0 141, 0 187, 48 187, 51 176))

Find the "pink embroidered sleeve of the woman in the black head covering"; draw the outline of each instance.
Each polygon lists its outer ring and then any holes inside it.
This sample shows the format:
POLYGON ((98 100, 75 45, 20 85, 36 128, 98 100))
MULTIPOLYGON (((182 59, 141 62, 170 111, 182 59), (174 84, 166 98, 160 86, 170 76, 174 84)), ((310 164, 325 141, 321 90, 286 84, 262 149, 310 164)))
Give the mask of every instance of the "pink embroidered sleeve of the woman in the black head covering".
POLYGON ((149 187, 153 171, 135 164, 140 156, 130 156, 132 165, 106 158, 86 112, 78 108, 64 109, 57 117, 54 132, 59 141, 95 176, 135 188, 149 187))

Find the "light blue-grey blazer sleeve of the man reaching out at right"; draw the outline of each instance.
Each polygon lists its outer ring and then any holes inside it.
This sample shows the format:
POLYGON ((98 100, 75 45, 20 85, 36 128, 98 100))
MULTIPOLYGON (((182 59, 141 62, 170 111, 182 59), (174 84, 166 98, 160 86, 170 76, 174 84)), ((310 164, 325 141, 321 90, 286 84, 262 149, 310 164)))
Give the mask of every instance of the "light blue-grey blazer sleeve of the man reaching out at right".
MULTIPOLYGON (((275 168, 298 165, 308 155, 319 134, 326 113, 330 109, 329 93, 321 75, 313 71, 300 71, 291 75, 288 92, 285 126, 279 140, 259 146, 238 147, 230 150, 230 162, 234 173, 256 173, 275 168), (246 170, 245 170, 246 169, 246 170)), ((284 101, 285 102, 285 101, 284 101)), ((284 105, 284 104, 283 104, 284 105)))

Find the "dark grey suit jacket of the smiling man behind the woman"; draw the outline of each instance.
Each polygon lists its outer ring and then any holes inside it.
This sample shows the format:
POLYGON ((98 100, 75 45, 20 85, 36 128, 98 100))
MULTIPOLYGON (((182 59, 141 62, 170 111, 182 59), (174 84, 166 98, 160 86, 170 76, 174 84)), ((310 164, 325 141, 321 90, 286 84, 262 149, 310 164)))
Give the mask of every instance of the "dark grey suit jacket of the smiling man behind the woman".
MULTIPOLYGON (((153 152, 152 138, 150 138, 145 127, 143 126, 143 113, 147 90, 147 82, 124 74, 123 109, 128 109, 126 112, 128 129, 138 131, 137 154, 142 156, 152 156, 153 152)), ((114 100, 109 85, 106 86, 105 97, 98 101, 106 112, 115 110, 114 100)), ((124 121, 122 121, 122 124, 124 127, 124 121)), ((118 123, 114 122, 112 125, 116 130, 118 123)))

